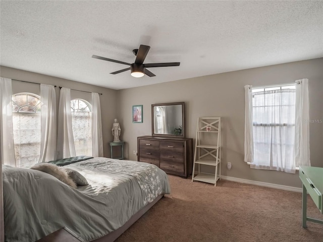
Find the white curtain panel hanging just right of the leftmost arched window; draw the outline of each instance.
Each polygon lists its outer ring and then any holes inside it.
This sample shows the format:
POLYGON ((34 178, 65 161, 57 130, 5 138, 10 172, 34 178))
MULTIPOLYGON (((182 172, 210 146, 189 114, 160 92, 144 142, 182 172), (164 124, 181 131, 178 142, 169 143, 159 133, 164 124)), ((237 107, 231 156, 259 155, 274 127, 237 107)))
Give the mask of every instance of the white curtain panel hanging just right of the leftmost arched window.
POLYGON ((54 86, 40 84, 41 146, 39 162, 56 160, 57 125, 54 86))

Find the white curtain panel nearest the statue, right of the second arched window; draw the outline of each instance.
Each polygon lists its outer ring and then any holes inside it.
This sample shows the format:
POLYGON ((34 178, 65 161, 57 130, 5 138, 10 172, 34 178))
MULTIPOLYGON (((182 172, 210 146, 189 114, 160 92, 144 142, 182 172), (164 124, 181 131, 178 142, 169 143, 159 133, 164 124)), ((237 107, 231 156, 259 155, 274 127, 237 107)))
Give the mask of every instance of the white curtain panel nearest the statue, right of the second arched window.
POLYGON ((92 93, 92 156, 103 157, 101 106, 98 93, 92 93))

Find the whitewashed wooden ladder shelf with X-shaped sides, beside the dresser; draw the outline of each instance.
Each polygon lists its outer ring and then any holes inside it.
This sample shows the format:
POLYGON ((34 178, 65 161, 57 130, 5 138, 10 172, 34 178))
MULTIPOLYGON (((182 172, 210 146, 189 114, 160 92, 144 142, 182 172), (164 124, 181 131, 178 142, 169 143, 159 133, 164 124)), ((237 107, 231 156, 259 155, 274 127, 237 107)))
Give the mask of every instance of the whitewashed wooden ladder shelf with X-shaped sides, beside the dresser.
POLYGON ((221 178, 220 144, 221 117, 199 117, 197 119, 192 181, 198 180, 217 186, 217 180, 221 178), (198 165, 197 171, 195 170, 196 164, 198 165), (211 173, 210 169, 214 173, 211 173))

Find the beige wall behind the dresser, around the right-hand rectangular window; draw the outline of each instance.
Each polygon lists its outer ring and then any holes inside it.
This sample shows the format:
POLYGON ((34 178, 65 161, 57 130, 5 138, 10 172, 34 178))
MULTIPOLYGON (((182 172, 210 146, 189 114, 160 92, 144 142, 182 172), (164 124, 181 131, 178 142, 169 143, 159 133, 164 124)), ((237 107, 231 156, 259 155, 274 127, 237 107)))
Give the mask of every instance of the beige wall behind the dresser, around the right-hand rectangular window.
MULTIPOLYGON (((123 130, 121 138, 127 142, 126 157, 137 160, 133 155, 133 150, 137 150, 137 137, 151 135, 151 104, 184 101, 186 137, 194 141, 199 116, 223 117, 223 175, 301 187, 298 172, 250 169, 243 157, 244 85, 294 83, 302 78, 309 79, 310 119, 323 120, 323 58, 119 90, 117 116, 123 130), (143 123, 132 123, 132 105, 141 104, 143 123), (232 163, 231 170, 226 168, 227 162, 232 163)), ((322 123, 310 124, 310 152, 312 166, 323 167, 322 123)))

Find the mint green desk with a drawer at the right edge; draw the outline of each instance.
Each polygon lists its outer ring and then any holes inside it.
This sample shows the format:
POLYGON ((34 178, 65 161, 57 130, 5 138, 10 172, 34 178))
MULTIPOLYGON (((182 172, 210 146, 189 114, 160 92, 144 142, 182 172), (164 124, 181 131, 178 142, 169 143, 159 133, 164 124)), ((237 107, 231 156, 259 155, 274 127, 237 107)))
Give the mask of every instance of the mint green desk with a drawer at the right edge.
POLYGON ((306 228, 306 221, 323 224, 323 220, 309 218, 306 215, 307 209, 307 193, 311 196, 318 210, 323 214, 323 168, 312 166, 300 166, 299 178, 303 183, 302 196, 302 226, 306 228))

